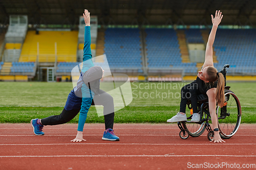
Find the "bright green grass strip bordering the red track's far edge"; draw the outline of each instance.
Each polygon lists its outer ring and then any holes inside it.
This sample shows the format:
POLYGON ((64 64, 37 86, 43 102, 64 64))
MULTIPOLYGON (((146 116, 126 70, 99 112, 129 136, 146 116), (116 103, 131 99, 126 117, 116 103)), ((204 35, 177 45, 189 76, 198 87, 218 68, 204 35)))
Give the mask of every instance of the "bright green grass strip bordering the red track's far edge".
MULTIPOLYGON (((63 107, 0 107, 0 123, 29 123, 33 118, 45 118, 61 113, 63 107)), ((177 114, 177 106, 127 106, 115 112, 115 123, 166 123, 177 114)), ((256 108, 242 108, 241 123, 256 123, 256 108)), ((189 110, 187 110, 189 114, 189 110)), ((187 115, 188 115, 187 114, 187 115)), ((69 123, 78 123, 78 115, 69 123)), ((104 123, 104 117, 98 117, 92 106, 86 123, 104 123)))

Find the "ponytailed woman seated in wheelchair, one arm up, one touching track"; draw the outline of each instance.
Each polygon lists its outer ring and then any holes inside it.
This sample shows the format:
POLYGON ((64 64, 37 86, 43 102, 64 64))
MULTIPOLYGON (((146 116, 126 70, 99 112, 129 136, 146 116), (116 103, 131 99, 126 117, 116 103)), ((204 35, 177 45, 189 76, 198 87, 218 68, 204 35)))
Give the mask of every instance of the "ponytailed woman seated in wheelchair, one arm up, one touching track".
POLYGON ((201 71, 198 72, 197 80, 185 85, 181 89, 181 102, 180 112, 167 122, 181 122, 187 120, 185 110, 187 99, 191 100, 193 107, 193 116, 191 122, 199 122, 200 114, 197 109, 197 94, 205 94, 208 96, 209 111, 211 116, 212 126, 214 128, 214 138, 211 141, 225 142, 221 139, 218 129, 218 116, 216 114, 216 102, 218 106, 222 107, 225 102, 224 86, 225 79, 221 72, 214 67, 214 61, 212 58, 212 45, 214 44, 217 28, 221 22, 223 15, 222 12, 216 11, 215 18, 211 15, 212 29, 206 44, 205 61, 201 71))

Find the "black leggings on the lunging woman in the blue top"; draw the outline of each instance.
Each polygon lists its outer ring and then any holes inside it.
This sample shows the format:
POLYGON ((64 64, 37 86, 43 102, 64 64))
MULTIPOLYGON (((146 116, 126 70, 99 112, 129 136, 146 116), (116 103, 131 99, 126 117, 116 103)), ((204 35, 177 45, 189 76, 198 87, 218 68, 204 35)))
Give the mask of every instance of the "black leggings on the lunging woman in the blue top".
MULTIPOLYGON (((105 110, 113 109, 113 112, 111 114, 104 115, 105 120, 105 129, 113 129, 114 125, 114 102, 113 98, 109 93, 106 93, 103 90, 100 90, 100 96, 95 96, 97 98, 97 102, 94 103, 94 100, 92 101, 91 105, 103 105, 103 112, 105 110), (98 99, 100 98, 100 100, 98 99)), ((62 112, 59 115, 49 116, 46 118, 41 119, 42 125, 60 125, 68 123, 70 120, 72 120, 78 113, 80 109, 72 109, 72 110, 65 110, 63 109, 62 112)))

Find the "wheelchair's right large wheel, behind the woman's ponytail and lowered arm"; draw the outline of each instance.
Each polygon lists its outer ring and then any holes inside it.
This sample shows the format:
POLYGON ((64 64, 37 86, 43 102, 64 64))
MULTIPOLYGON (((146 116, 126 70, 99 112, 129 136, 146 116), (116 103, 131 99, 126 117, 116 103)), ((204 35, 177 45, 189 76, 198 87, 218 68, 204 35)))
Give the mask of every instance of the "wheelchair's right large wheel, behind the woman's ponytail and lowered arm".
POLYGON ((217 108, 220 136, 228 139, 237 133, 241 123, 241 105, 236 94, 225 90, 224 106, 217 108))

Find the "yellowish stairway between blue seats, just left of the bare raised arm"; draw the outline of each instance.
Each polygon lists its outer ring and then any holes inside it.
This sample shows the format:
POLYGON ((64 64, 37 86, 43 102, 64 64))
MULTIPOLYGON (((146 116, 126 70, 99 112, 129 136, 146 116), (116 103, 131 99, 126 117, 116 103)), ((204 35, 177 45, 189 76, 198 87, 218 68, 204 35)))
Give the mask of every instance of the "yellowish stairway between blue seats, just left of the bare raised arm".
POLYGON ((187 49, 187 44, 186 44, 186 38, 185 38, 185 33, 184 30, 177 30, 177 37, 180 45, 180 53, 181 53, 181 58, 183 63, 189 63, 189 55, 188 55, 188 49, 187 49))

